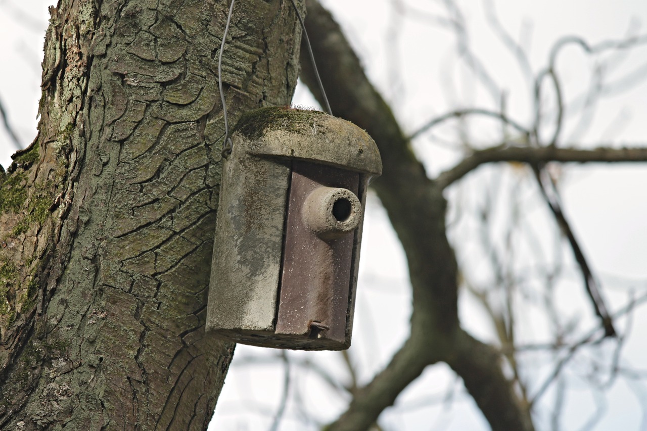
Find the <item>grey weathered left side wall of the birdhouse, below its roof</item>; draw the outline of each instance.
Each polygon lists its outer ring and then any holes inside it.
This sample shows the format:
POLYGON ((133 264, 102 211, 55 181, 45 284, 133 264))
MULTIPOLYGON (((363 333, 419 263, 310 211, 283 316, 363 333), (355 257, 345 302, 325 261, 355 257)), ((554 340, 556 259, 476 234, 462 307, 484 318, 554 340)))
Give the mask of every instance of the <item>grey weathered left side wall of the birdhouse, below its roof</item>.
POLYGON ((206 326, 274 331, 290 169, 234 153, 223 166, 206 326))

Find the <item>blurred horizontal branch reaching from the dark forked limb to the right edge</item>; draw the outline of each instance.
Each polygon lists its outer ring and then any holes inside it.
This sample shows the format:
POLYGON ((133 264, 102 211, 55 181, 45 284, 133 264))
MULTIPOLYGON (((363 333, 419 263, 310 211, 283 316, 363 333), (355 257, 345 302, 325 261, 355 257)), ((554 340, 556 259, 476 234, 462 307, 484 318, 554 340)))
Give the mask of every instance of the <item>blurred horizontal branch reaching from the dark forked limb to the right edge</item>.
POLYGON ((617 162, 646 162, 647 146, 611 148, 604 144, 594 149, 556 148, 556 147, 516 147, 503 144, 495 147, 479 149, 466 156, 454 168, 440 173, 436 179, 439 187, 446 188, 463 178, 481 164, 493 162, 525 162, 538 164, 542 162, 562 163, 617 163, 617 162))

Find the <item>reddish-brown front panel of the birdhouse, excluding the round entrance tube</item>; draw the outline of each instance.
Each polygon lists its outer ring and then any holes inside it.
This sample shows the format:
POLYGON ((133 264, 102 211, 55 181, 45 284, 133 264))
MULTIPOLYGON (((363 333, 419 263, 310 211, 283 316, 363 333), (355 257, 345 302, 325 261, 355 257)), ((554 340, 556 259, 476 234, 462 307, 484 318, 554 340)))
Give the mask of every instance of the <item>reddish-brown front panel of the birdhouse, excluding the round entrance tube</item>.
POLYGON ((338 239, 324 240, 304 223, 302 209, 315 188, 346 188, 357 195, 359 181, 356 172, 293 162, 277 335, 301 335, 313 338, 313 342, 325 338, 346 347, 349 344, 350 331, 346 340, 346 326, 351 321, 349 294, 355 287, 352 265, 356 230, 338 239))

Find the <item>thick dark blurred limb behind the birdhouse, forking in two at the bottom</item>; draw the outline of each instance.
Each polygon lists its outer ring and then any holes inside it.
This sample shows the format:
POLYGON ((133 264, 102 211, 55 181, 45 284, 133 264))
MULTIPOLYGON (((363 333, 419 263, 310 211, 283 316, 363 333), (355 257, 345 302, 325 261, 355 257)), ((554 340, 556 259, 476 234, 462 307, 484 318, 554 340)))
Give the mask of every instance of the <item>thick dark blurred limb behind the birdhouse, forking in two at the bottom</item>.
MULTIPOLYGON (((327 429, 368 429, 424 366, 443 361, 461 376, 492 429, 532 430, 529 410, 505 379, 498 353, 459 326, 457 264, 446 237, 443 187, 426 175, 329 12, 315 0, 305 3, 307 31, 333 113, 366 129, 382 154, 384 170, 372 185, 404 247, 413 288, 410 339, 327 429)), ((303 81, 321 100, 305 49, 302 68, 303 81)))

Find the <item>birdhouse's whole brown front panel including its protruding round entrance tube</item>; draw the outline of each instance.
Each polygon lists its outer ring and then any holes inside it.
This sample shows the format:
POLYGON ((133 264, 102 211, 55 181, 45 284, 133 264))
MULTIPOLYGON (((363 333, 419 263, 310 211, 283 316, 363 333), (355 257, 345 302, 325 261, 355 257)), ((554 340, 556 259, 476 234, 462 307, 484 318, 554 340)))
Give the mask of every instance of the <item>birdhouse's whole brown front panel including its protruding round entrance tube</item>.
POLYGON ((363 215, 359 177, 333 166, 292 165, 276 333, 345 344, 363 215))

